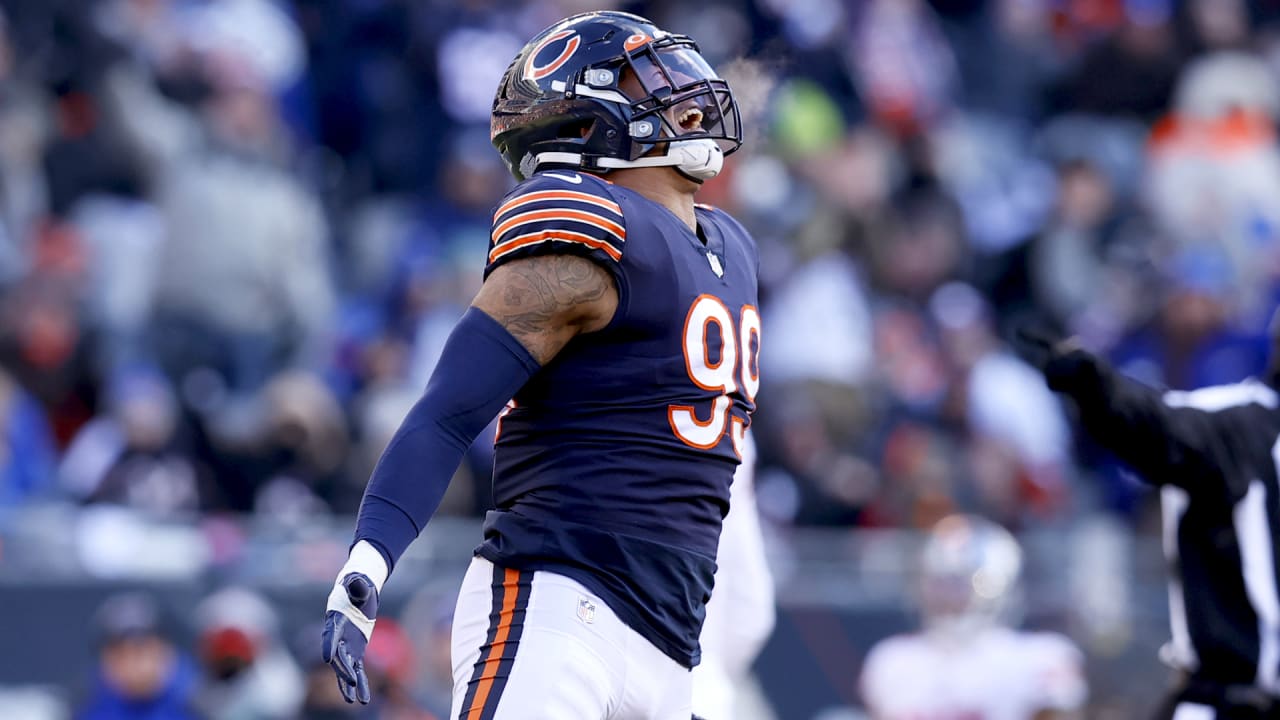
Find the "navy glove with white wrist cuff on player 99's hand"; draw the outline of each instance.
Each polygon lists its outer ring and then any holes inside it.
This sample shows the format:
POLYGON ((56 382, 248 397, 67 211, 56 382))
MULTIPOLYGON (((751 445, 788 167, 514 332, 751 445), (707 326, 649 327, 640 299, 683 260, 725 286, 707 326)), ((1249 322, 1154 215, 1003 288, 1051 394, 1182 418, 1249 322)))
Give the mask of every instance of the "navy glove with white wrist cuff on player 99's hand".
POLYGON ((324 615, 321 656, 338 675, 338 689, 347 702, 367 705, 369 675, 365 674, 365 648, 378 618, 378 588, 369 575, 348 573, 329 593, 324 615))

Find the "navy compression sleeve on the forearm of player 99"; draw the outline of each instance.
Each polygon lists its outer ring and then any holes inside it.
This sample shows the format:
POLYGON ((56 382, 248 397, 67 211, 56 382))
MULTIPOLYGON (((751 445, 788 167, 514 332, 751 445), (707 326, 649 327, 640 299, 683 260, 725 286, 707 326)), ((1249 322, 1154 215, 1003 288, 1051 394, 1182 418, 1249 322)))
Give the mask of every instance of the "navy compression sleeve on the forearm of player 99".
POLYGON ((394 568, 439 507, 467 447, 538 370, 506 328, 468 309, 374 468, 355 542, 369 541, 394 568))

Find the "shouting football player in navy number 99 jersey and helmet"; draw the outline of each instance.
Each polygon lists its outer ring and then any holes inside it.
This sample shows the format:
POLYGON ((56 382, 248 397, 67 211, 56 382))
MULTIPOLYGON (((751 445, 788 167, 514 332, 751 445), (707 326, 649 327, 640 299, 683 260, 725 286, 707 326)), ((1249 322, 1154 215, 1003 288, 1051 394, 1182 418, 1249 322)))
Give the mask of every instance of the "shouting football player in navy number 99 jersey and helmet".
POLYGON ((453 620, 451 716, 690 717, 759 387, 755 243, 694 202, 739 118, 692 40, 625 13, 561 20, 512 61, 492 138, 521 182, 329 596, 324 651, 348 700, 369 701, 383 583, 511 401, 453 620))

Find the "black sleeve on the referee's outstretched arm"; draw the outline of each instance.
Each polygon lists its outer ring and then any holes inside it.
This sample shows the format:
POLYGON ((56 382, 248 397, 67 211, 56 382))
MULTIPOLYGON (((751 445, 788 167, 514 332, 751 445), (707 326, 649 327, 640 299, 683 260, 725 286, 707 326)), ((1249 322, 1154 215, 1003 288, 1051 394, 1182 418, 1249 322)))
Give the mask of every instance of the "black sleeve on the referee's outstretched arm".
POLYGON ((1115 372, 1082 350, 1046 368, 1050 387, 1070 396, 1089 436, 1153 484, 1190 489, 1221 482, 1235 450, 1215 413, 1172 406, 1161 391, 1115 372))

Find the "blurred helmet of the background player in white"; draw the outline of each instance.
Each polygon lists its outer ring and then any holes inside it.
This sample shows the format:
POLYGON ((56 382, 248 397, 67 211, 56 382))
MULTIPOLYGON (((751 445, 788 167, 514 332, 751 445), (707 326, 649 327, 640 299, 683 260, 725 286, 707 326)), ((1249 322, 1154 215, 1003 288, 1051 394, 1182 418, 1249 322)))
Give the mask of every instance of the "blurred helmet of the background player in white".
POLYGON ((1021 547, 996 523, 977 515, 938 520, 920 553, 927 629, 965 634, 1011 620, 1021 568, 1021 547))

